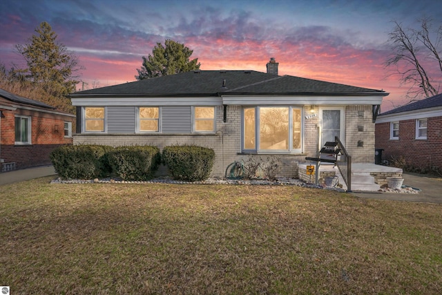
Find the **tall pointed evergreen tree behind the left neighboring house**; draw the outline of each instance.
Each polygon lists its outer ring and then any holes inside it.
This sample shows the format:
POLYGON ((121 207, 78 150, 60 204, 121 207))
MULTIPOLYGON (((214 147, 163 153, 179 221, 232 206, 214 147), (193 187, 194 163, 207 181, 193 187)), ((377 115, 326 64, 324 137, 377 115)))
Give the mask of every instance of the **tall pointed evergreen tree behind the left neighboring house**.
POLYGON ((28 44, 15 46, 28 66, 26 69, 15 69, 16 73, 57 97, 75 91, 79 80, 74 73, 82 69, 78 57, 68 51, 64 44, 57 43, 57 34, 46 21, 40 23, 35 32, 37 35, 32 35, 28 44))

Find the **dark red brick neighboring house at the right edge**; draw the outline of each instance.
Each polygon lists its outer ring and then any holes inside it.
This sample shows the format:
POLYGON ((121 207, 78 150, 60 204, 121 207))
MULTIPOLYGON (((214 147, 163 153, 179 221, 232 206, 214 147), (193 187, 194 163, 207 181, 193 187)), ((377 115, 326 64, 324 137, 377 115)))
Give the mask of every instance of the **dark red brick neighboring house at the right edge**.
POLYGON ((442 94, 394 108, 376 119, 376 149, 382 160, 410 168, 442 169, 442 94))

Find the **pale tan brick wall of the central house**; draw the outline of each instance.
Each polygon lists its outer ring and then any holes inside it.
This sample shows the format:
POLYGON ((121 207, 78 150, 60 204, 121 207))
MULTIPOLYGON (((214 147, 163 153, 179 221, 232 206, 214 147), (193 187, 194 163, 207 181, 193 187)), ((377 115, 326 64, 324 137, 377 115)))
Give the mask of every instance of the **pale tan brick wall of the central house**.
MULTIPOLYGON (((241 110, 242 106, 227 106, 227 122, 223 122, 222 106, 216 107, 216 127, 215 134, 77 134, 74 135, 74 144, 104 144, 111 146, 124 145, 153 145, 158 146, 160 150, 164 146, 174 144, 195 144, 206 146, 213 149, 216 153, 215 164, 212 175, 224 177, 229 164, 244 160, 249 157, 277 158, 280 164, 280 173, 278 176, 298 178, 298 163, 305 163, 305 157, 315 157, 318 151, 318 117, 305 119, 304 124, 304 151, 298 154, 258 154, 249 155, 241 153, 241 110)), ((305 114, 310 111, 310 106, 305 106, 305 114)), ((315 112, 318 113, 316 106, 315 112)), ((372 123, 372 106, 354 106, 346 109, 347 146, 350 155, 353 156, 353 162, 374 162, 374 124, 372 123), (361 117, 359 111, 363 111, 361 117), (357 126, 363 125, 364 131, 358 131, 357 126), (356 131, 355 131, 356 130, 356 131), (362 147, 357 147, 357 141, 363 140, 362 147)), ((160 168, 160 169, 164 169, 160 168)), ((162 170, 165 172, 164 170, 162 170)))

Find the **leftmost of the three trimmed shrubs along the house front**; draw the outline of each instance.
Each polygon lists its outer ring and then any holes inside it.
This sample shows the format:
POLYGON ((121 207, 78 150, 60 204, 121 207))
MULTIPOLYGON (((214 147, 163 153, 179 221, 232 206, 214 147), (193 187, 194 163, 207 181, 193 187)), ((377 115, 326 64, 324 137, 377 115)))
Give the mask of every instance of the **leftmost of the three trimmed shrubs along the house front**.
POLYGON ((106 153, 112 146, 59 146, 50 153, 50 161, 61 178, 91 179, 110 172, 106 153))

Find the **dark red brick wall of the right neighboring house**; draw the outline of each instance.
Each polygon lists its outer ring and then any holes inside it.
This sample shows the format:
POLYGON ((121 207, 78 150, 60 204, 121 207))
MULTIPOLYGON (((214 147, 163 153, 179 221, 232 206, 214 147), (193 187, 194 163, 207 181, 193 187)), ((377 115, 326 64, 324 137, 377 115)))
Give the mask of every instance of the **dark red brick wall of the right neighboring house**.
POLYGON ((376 149, 384 149, 383 160, 403 157, 419 169, 442 169, 442 117, 427 119, 427 140, 416 140, 416 120, 399 122, 399 139, 390 140, 390 122, 376 124, 376 149))

